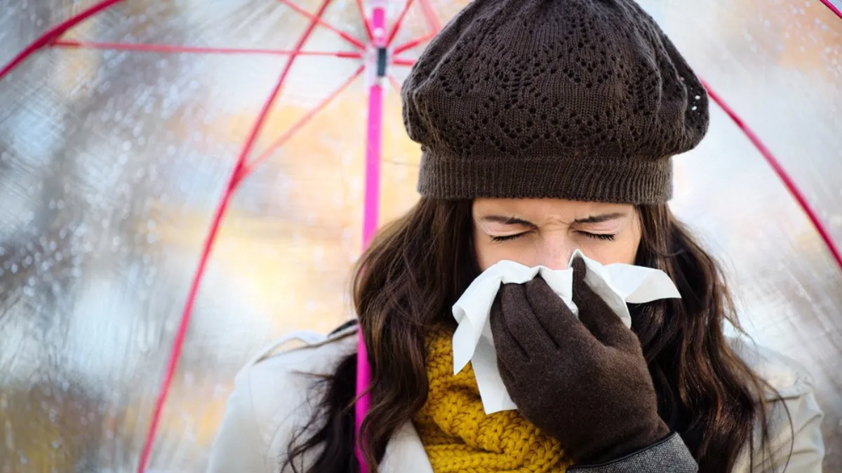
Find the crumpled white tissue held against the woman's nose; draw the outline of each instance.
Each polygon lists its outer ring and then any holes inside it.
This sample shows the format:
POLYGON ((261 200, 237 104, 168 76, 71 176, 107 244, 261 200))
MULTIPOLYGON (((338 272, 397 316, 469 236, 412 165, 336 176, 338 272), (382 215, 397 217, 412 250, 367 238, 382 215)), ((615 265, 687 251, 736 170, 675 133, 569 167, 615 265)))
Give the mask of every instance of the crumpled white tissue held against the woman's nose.
POLYGON ((459 373, 471 362, 486 414, 516 409, 500 378, 497 352, 491 335, 490 312, 501 284, 523 284, 536 274, 578 315, 573 303, 573 259, 581 256, 588 266, 585 284, 605 300, 626 327, 632 327, 632 316, 626 303, 642 304, 658 299, 680 298, 679 290, 663 271, 632 264, 602 264, 576 250, 568 269, 544 266, 530 268, 514 261, 501 261, 486 269, 468 286, 453 306, 459 327, 453 334, 453 373, 459 373))

